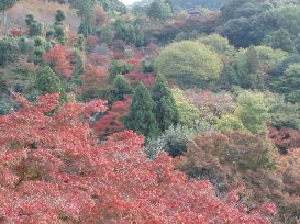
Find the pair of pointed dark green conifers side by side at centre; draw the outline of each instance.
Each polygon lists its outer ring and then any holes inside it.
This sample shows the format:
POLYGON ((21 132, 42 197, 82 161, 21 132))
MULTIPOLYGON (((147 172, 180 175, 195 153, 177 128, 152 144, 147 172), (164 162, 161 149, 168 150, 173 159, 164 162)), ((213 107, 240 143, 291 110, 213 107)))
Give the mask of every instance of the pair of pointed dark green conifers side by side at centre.
POLYGON ((178 119, 178 109, 168 82, 163 75, 158 75, 152 96, 143 82, 137 86, 124 124, 126 128, 152 139, 176 125, 178 119))

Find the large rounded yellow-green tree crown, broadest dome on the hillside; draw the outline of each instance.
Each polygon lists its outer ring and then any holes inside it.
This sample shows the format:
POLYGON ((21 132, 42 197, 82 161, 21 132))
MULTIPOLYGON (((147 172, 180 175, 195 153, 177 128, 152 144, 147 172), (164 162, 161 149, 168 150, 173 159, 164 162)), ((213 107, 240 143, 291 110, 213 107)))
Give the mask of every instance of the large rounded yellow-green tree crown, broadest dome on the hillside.
POLYGON ((156 58, 155 66, 180 86, 205 86, 218 80, 223 68, 218 54, 197 41, 168 45, 156 58))

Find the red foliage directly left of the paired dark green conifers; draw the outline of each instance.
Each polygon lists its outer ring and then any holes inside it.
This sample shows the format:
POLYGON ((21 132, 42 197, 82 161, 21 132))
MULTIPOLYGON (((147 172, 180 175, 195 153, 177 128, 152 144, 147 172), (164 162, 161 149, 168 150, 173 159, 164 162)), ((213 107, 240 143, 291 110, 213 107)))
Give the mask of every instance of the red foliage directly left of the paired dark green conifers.
POLYGON ((124 131, 123 120, 129 112, 131 102, 131 98, 115 102, 105 115, 92 124, 95 134, 98 136, 108 136, 124 131))

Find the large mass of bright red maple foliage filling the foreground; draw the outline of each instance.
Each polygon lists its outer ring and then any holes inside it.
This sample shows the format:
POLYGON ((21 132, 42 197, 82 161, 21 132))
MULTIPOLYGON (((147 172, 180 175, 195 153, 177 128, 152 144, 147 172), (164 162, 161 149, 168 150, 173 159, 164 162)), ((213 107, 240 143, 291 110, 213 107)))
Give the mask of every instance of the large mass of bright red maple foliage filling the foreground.
POLYGON ((69 102, 52 115, 58 94, 23 98, 0 116, 0 220, 3 223, 270 223, 247 212, 238 192, 221 200, 209 181, 187 181, 162 154, 148 160, 144 137, 131 131, 103 143, 80 122, 105 110, 103 101, 69 102))

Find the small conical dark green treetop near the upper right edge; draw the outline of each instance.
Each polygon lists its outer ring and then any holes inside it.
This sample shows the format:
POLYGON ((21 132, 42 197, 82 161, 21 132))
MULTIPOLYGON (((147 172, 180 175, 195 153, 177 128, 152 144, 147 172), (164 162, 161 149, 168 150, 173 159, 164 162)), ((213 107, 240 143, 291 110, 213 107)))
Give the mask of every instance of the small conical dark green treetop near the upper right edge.
POLYGON ((279 29, 268 34, 263 44, 270 46, 274 49, 282 49, 288 53, 297 53, 293 42, 290 38, 290 34, 285 29, 279 29))

